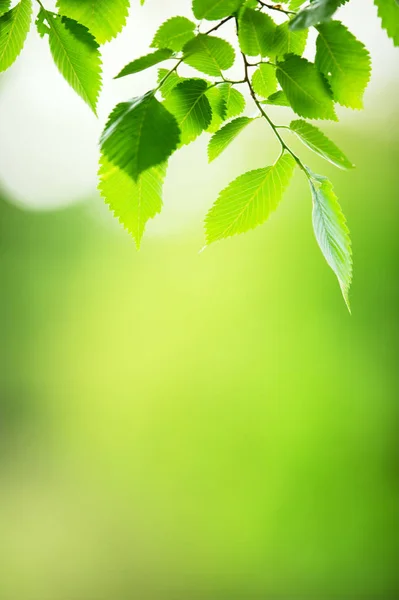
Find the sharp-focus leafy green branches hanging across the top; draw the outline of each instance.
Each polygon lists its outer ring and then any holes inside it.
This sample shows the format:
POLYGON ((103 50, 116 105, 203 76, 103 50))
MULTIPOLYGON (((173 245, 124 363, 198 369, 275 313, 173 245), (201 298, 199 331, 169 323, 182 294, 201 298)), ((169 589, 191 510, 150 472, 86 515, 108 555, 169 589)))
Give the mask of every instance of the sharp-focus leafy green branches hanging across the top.
MULTIPOLYGON (((151 1, 151 0, 147 0, 151 1)), ((160 25, 151 51, 129 62, 116 78, 158 66, 151 90, 118 104, 100 139, 99 189, 115 216, 140 246, 146 223, 161 211, 169 157, 202 133, 211 134, 209 161, 240 133, 265 120, 280 144, 273 165, 237 177, 221 191, 205 217, 207 244, 264 223, 278 207, 296 167, 310 185, 312 220, 320 249, 337 276, 349 308, 352 254, 349 231, 331 182, 315 174, 283 137, 290 132, 317 155, 341 169, 352 162, 311 120, 337 121, 336 104, 359 109, 370 79, 364 45, 335 19, 350 0, 187 0, 194 20, 171 17, 160 25), (274 21, 280 14, 282 23, 274 21), (203 21, 212 23, 201 32, 203 21), (228 71, 236 50, 219 31, 235 23, 243 76, 228 71), (303 57, 308 31, 316 31, 313 60, 303 57), (164 62, 174 61, 165 69, 164 62), (182 76, 182 65, 195 70, 182 76), (201 74, 198 76, 198 71, 201 74), (244 113, 247 96, 257 109, 244 113), (291 109, 297 118, 276 124, 267 106, 291 109), (299 118, 298 118, 299 117, 299 118)), ((374 0, 382 27, 399 45, 397 0, 374 0)), ((141 0, 144 4, 144 0, 141 0)), ((47 38, 62 76, 96 113, 102 87, 101 46, 123 29, 129 0, 57 0, 57 12, 36 0, 36 28, 47 38)), ((19 56, 31 26, 33 0, 0 0, 0 72, 19 56)), ((281 20, 281 19, 280 19, 281 20)))

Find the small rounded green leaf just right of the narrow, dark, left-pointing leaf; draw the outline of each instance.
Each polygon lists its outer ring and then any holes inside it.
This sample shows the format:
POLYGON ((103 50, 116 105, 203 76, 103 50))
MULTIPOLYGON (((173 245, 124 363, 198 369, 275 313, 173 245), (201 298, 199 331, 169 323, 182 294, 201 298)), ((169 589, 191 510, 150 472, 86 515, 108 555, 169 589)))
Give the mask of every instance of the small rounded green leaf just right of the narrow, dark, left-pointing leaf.
POLYGON ((184 62, 201 73, 218 77, 234 63, 233 47, 221 38, 200 33, 185 44, 184 62))

